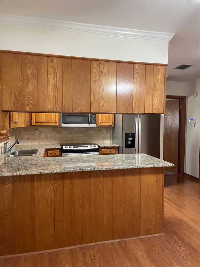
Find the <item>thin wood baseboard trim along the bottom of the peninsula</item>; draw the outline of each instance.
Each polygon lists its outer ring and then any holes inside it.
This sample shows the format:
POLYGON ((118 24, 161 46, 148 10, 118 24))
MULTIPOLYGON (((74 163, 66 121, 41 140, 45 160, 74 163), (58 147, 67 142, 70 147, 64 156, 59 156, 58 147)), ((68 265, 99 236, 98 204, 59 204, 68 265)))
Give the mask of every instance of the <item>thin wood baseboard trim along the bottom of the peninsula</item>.
POLYGON ((119 242, 119 241, 126 241, 126 240, 133 240, 133 239, 140 239, 140 238, 155 237, 155 236, 160 236, 160 235, 164 235, 164 234, 163 233, 161 233, 161 234, 150 234, 150 235, 143 235, 143 236, 137 236, 137 237, 130 237, 130 238, 123 238, 123 239, 102 241, 102 242, 96 242, 96 243, 90 243, 90 244, 83 244, 83 245, 77 245, 77 246, 65 247, 65 248, 59 248, 59 249, 49 249, 49 250, 27 252, 27 253, 21 253, 21 254, 5 255, 5 256, 0 256, 0 259, 27 256, 27 255, 33 255, 33 254, 41 254, 41 253, 54 252, 54 251, 65 250, 65 249, 75 249, 75 248, 80 248, 80 247, 99 245, 99 244, 106 244, 106 243, 119 242))

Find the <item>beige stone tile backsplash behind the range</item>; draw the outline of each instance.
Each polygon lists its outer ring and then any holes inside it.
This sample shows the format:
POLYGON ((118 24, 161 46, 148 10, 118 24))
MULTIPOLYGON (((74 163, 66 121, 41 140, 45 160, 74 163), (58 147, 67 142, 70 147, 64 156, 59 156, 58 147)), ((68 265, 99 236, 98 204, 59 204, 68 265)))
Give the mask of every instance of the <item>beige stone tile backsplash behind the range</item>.
POLYGON ((110 142, 109 127, 98 130, 96 127, 25 127, 9 131, 22 145, 60 144, 65 142, 110 142), (35 135, 35 130, 39 131, 35 135))

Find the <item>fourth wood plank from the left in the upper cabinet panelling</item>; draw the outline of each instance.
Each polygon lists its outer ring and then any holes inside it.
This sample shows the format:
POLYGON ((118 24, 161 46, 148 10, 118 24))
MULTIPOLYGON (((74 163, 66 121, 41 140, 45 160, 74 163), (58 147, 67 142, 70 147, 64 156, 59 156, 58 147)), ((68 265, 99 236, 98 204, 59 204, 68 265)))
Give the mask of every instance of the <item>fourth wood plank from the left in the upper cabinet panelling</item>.
POLYGON ((48 111, 63 111, 62 58, 47 57, 48 111))

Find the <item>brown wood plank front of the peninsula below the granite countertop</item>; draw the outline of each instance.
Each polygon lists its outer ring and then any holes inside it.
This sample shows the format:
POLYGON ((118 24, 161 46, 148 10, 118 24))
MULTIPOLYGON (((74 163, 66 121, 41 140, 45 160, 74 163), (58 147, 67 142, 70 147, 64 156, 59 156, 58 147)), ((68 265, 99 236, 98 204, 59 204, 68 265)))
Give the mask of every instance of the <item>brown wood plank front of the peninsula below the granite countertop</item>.
POLYGON ((0 177, 0 256, 161 234, 163 177, 162 167, 0 177))

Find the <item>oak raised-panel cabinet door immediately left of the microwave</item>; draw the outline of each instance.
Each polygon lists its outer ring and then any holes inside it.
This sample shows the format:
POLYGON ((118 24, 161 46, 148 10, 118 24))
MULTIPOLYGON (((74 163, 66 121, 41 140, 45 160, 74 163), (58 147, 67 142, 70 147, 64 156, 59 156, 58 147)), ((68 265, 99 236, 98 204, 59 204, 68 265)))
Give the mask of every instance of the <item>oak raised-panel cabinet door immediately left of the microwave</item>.
POLYGON ((58 113, 32 113, 32 126, 58 126, 58 113))

